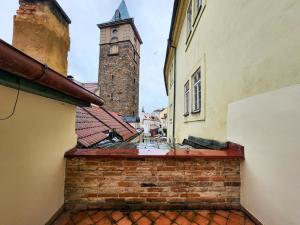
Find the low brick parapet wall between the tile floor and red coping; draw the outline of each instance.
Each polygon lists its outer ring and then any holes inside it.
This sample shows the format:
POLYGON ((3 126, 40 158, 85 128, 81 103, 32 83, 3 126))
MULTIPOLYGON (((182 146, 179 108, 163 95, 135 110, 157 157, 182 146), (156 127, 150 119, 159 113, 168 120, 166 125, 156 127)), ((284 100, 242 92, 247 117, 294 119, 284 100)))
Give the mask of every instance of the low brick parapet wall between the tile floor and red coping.
POLYGON ((68 158, 68 209, 238 208, 239 159, 68 158))

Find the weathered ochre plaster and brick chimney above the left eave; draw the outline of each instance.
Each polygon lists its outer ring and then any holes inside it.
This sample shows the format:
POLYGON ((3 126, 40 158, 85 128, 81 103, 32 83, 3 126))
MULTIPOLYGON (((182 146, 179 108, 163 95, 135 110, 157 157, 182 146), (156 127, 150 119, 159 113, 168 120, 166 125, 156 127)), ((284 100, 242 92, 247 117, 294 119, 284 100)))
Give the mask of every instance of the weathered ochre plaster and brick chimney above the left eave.
POLYGON ((13 46, 67 76, 69 17, 56 0, 19 0, 19 4, 13 46))

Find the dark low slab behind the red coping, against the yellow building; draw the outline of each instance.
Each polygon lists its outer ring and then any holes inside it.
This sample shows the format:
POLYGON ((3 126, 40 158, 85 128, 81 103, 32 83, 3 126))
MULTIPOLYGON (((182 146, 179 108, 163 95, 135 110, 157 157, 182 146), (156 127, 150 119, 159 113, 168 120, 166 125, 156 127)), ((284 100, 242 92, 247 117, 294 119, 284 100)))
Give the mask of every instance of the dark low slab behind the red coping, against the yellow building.
POLYGON ((227 143, 219 142, 215 140, 209 140, 204 138, 198 138, 189 136, 188 139, 184 139, 182 144, 192 146, 196 149, 225 149, 227 143))

